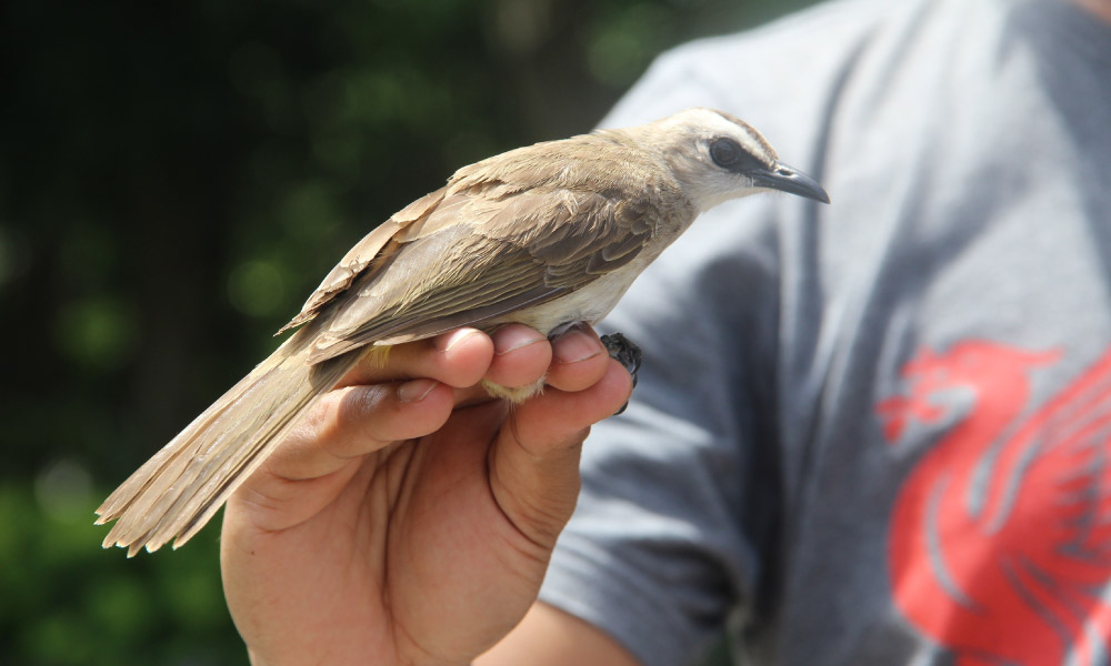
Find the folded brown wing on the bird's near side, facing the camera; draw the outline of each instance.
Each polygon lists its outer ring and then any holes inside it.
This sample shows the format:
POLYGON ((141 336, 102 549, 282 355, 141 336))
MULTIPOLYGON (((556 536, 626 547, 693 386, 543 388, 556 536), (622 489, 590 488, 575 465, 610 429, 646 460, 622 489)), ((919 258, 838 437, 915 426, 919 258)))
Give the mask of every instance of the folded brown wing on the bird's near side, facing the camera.
POLYGON ((329 296, 336 313, 309 362, 478 325, 581 289, 632 261, 659 222, 648 196, 451 188, 382 243, 342 296, 329 296))

